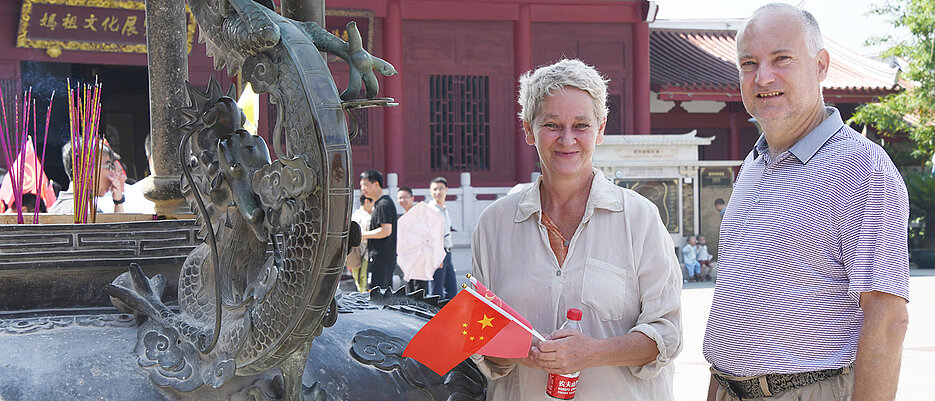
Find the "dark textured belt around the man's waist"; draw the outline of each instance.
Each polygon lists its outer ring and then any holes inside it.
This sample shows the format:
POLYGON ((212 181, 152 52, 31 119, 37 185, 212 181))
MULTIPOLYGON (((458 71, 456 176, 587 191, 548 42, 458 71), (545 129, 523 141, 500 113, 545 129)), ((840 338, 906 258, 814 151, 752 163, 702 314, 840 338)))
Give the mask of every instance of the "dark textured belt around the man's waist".
POLYGON ((849 372, 852 366, 838 369, 816 370, 791 374, 769 373, 754 377, 736 377, 718 372, 711 367, 714 379, 731 394, 739 398, 772 397, 783 391, 805 387, 812 383, 849 372))

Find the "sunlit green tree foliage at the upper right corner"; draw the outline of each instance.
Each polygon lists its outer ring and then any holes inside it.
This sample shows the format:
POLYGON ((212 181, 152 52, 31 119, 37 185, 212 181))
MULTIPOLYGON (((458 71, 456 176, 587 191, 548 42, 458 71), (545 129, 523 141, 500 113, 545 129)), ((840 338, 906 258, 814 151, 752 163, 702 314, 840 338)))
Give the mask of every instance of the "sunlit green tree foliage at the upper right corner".
POLYGON ((882 56, 908 62, 900 78, 909 85, 879 103, 861 106, 848 123, 870 125, 882 138, 908 134, 916 145, 912 156, 931 160, 935 153, 935 0, 887 0, 870 13, 889 17, 894 32, 908 34, 887 34, 868 43, 888 44, 891 47, 882 56))

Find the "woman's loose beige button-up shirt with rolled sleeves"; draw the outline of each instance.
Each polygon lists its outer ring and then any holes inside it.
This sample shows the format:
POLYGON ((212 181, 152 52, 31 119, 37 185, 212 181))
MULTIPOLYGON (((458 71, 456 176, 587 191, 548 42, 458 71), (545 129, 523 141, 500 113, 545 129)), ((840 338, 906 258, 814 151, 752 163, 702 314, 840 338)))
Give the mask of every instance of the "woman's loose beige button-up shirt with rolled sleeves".
MULTIPOLYGON (((576 400, 672 400, 671 362, 682 347, 682 277, 658 209, 595 169, 584 217, 560 268, 541 223, 541 182, 481 214, 471 243, 474 276, 543 335, 564 322, 568 308, 578 308, 581 330, 592 337, 639 331, 656 342, 659 355, 647 365, 581 372, 576 400)), ((473 359, 494 379, 488 400, 544 399, 546 372, 473 359)))

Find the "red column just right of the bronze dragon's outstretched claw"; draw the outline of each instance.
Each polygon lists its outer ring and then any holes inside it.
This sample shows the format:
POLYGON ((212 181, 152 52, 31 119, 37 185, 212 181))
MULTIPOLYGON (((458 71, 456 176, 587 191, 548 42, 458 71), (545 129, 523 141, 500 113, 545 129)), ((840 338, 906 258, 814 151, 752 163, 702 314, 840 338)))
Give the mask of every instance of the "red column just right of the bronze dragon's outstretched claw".
POLYGON ((384 174, 403 175, 403 46, 402 13, 399 0, 389 0, 386 5, 386 19, 383 21, 383 49, 385 60, 396 67, 399 75, 383 80, 386 96, 396 99, 399 106, 385 109, 384 120, 384 174))

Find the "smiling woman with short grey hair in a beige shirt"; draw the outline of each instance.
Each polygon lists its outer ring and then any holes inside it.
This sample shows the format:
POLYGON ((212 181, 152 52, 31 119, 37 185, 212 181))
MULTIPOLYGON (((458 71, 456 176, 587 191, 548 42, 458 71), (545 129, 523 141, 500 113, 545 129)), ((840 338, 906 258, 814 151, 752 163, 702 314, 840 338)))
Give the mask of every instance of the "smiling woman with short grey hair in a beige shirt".
POLYGON ((541 400, 548 373, 577 371, 576 399, 673 399, 681 273, 656 206, 591 166, 606 98, 607 80, 579 60, 520 78, 542 175, 481 214, 473 274, 551 334, 527 358, 472 357, 493 379, 488 400, 541 400), (568 308, 584 312, 581 331, 557 330, 568 308))

